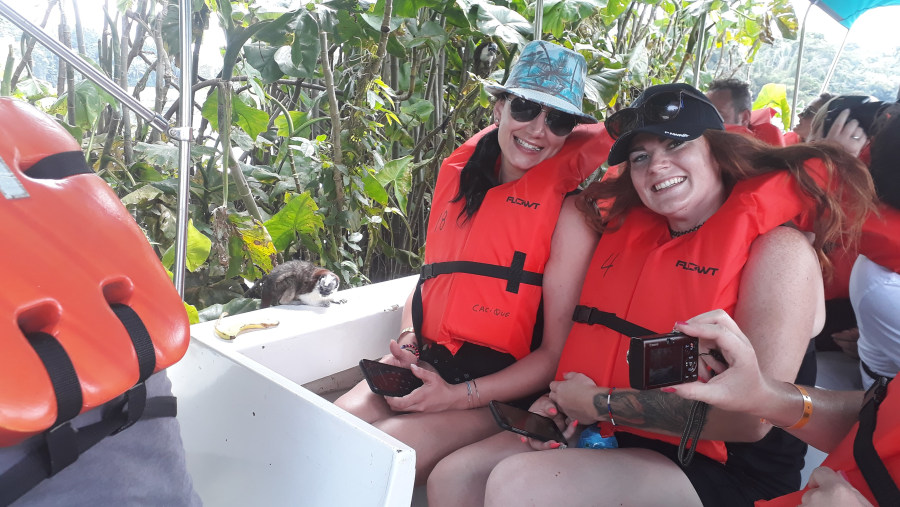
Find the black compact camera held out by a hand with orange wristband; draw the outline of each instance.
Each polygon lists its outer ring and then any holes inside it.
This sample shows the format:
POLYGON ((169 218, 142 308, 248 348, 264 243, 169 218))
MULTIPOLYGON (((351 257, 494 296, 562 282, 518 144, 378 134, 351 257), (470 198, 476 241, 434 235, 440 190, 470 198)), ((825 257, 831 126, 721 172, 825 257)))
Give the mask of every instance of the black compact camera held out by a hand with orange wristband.
POLYGON ((699 340, 684 333, 631 338, 628 380, 634 389, 657 389, 697 380, 699 340))

